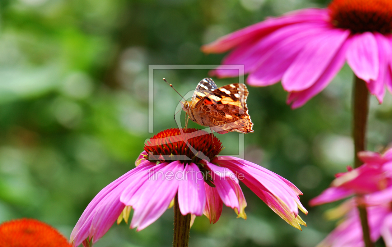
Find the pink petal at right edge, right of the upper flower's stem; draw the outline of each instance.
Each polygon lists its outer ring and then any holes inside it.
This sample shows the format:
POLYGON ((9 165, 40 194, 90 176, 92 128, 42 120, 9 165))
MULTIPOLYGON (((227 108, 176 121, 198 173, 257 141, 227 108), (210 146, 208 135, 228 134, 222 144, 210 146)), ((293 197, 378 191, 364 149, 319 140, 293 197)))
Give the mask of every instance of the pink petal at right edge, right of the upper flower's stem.
POLYGON ((370 80, 367 83, 367 87, 371 94, 377 97, 379 103, 383 103, 383 98, 385 95, 385 84, 387 79, 387 73, 389 72, 389 64, 391 62, 391 47, 387 38, 382 34, 374 34, 377 47, 378 47, 378 59, 379 59, 379 72, 376 80, 370 80))

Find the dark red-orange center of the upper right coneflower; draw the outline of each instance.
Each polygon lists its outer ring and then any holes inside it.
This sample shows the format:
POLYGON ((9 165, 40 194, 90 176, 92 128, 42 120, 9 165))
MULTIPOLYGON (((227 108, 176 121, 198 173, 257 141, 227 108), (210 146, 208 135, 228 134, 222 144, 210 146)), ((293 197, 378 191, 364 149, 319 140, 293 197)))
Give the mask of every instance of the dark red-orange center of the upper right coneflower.
POLYGON ((328 9, 336 27, 352 32, 392 31, 392 0, 334 0, 328 9))

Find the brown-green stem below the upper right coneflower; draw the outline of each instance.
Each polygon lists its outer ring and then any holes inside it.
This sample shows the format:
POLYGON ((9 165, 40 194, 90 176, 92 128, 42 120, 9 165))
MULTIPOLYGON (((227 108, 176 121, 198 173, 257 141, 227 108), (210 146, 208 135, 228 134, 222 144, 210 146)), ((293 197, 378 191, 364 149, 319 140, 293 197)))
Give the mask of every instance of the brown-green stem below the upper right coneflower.
MULTIPOLYGON (((369 110, 369 93, 365 81, 354 75, 353 83, 353 138, 354 138, 354 167, 363 163, 358 158, 358 152, 365 150, 366 125, 369 110)), ((361 198, 358 198, 360 201, 361 198)), ((366 247, 373 247, 370 239, 370 231, 366 207, 359 205, 359 216, 361 218, 363 241, 366 247)))

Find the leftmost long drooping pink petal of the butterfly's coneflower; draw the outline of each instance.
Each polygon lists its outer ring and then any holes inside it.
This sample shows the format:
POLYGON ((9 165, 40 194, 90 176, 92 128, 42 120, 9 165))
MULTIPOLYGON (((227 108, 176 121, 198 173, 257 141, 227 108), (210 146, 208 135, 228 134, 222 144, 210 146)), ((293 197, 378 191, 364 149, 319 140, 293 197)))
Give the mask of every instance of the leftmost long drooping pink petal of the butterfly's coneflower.
MULTIPOLYGON (((107 214, 109 211, 113 209, 113 211, 119 211, 121 206, 119 204, 120 195, 122 190, 128 186, 130 181, 137 179, 139 174, 142 174, 152 168, 154 163, 143 163, 137 168, 132 169, 131 171, 125 173, 120 178, 117 178, 113 182, 111 182, 108 186, 103 188, 84 210, 82 216, 80 216, 78 222, 76 223, 70 237, 70 242, 73 243, 73 246, 78 246, 82 243, 83 240, 90 237, 94 239, 94 242, 99 240, 103 234, 105 234, 105 229, 109 229, 111 225, 114 224, 116 219, 109 219, 101 222, 100 226, 93 225, 94 217, 99 218, 100 214, 107 214), (113 203, 110 203, 109 200, 113 200, 113 203), (106 207, 105 205, 108 207, 106 207), (93 232, 91 232, 93 231, 93 232), (99 235, 94 235, 99 234, 99 235), (94 236, 93 236, 94 235, 94 236)), ((121 209, 122 210, 122 209, 121 209)), ((120 214, 120 213, 119 213, 120 214)), ((119 215, 118 214, 118 215, 119 215)), ((118 217, 117 215, 117 217, 118 217)), ((98 220, 97 218, 97 220, 98 220)), ((106 230, 107 231, 107 230, 106 230)))

